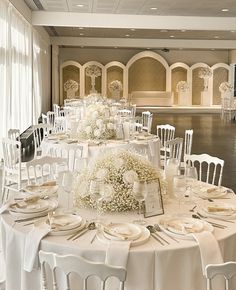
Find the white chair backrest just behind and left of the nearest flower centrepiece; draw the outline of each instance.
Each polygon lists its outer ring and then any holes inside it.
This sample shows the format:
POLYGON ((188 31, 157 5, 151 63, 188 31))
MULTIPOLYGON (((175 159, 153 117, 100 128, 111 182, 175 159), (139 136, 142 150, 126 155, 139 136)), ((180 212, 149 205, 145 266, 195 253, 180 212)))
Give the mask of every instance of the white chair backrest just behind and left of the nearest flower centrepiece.
POLYGON ((87 158, 84 157, 84 146, 78 144, 60 144, 51 148, 52 157, 65 158, 70 171, 80 171, 87 166, 87 158))

